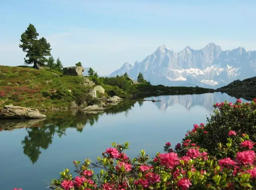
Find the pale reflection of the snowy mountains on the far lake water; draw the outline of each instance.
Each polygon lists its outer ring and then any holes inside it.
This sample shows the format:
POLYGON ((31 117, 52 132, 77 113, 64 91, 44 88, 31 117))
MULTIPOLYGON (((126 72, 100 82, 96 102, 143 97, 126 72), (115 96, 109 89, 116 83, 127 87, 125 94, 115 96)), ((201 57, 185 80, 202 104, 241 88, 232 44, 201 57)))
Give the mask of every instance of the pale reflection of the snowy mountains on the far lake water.
POLYGON ((158 96, 146 99, 161 100, 161 102, 155 102, 153 104, 155 104, 158 109, 162 111, 165 111, 168 107, 171 107, 174 104, 181 104, 187 110, 190 110, 194 106, 202 106, 211 112, 213 110, 212 105, 216 102, 223 102, 225 100, 227 100, 228 102, 236 101, 236 98, 231 97, 226 93, 222 94, 220 92, 192 95, 158 96))

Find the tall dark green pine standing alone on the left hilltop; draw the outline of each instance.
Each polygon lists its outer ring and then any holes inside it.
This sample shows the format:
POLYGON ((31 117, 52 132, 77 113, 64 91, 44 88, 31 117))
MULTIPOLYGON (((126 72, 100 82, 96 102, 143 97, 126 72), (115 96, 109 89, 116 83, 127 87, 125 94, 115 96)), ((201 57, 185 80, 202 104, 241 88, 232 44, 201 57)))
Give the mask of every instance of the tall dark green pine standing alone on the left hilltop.
POLYGON ((48 60, 46 56, 50 56, 52 50, 50 43, 44 37, 37 39, 37 36, 39 34, 34 25, 29 24, 25 32, 21 34, 20 42, 22 44, 19 44, 22 51, 26 53, 25 64, 34 64, 35 69, 45 66, 48 60))

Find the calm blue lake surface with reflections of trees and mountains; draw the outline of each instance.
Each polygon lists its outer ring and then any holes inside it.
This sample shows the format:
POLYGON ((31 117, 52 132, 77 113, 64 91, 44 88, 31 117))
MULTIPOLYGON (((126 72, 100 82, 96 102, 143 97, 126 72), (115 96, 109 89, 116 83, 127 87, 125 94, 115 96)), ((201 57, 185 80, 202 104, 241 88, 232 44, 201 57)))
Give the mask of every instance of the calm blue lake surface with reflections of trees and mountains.
POLYGON ((193 124, 206 123, 214 102, 236 101, 221 93, 146 99, 162 101, 120 104, 99 114, 51 112, 33 128, 1 131, 1 189, 46 190, 64 168, 74 171, 73 160, 95 161, 113 141, 130 142, 130 157, 141 149, 154 157, 165 142, 175 145, 193 124))

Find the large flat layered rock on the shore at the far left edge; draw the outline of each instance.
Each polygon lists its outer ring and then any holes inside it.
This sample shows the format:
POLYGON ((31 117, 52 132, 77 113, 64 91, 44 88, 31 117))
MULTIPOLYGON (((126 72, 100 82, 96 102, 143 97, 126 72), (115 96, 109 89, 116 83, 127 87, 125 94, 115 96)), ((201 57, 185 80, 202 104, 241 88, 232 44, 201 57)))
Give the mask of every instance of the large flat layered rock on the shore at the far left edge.
POLYGON ((0 119, 40 119, 46 118, 46 115, 39 113, 32 108, 7 105, 0 110, 0 119))

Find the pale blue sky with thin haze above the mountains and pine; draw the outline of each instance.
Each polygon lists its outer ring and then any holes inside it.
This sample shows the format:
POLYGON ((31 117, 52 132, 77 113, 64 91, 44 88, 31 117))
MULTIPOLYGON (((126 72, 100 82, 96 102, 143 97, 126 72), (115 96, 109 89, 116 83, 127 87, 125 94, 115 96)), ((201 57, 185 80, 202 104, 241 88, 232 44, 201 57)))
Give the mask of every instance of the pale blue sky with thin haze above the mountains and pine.
POLYGON ((177 52, 210 42, 256 50, 255 10, 254 0, 2 0, 0 64, 23 64, 18 44, 29 23, 64 66, 81 61, 100 75, 162 44, 177 52))

